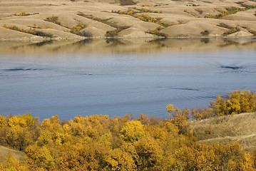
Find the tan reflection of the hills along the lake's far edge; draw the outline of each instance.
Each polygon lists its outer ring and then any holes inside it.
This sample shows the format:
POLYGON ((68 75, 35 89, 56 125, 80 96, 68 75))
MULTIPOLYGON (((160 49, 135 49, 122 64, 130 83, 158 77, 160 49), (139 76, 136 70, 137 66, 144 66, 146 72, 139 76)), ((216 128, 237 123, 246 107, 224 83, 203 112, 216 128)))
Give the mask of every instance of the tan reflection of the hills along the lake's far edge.
POLYGON ((0 42, 0 53, 153 53, 256 49, 255 38, 84 39, 81 41, 0 42))

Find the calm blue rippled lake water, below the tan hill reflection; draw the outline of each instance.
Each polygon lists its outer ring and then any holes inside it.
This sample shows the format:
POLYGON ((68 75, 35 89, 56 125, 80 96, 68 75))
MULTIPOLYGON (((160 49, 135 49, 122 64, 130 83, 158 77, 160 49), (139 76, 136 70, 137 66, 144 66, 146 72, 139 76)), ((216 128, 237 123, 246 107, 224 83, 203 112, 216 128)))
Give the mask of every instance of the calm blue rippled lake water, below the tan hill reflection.
POLYGON ((167 118, 165 105, 170 103, 179 108, 207 106, 217 94, 256 90, 255 46, 239 47, 158 48, 148 53, 13 53, 13 49, 0 53, 0 115, 32 113, 44 119, 58 114, 63 120, 146 113, 167 118))

